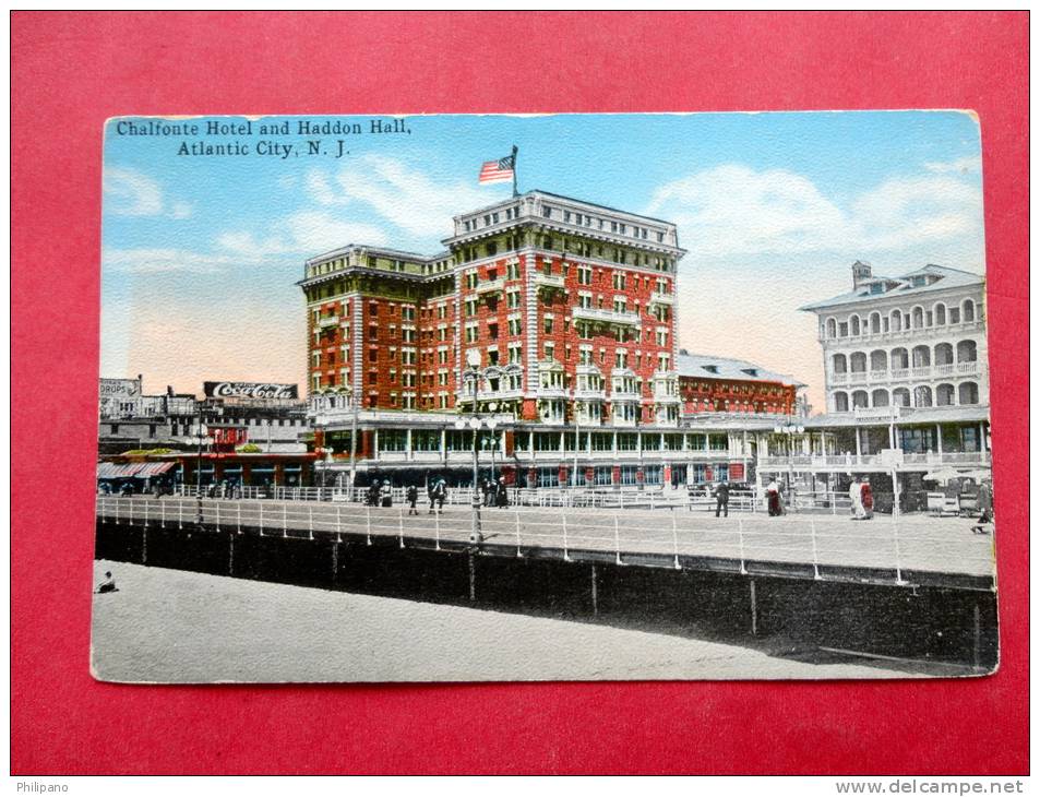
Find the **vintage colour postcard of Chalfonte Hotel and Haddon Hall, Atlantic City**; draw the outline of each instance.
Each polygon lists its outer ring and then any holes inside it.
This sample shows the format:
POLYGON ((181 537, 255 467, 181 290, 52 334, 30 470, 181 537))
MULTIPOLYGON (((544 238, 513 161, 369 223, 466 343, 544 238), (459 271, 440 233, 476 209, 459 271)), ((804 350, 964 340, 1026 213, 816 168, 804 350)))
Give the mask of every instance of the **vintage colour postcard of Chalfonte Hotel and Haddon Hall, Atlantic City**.
POLYGON ((971 112, 122 117, 104 157, 97 678, 996 668, 971 112))

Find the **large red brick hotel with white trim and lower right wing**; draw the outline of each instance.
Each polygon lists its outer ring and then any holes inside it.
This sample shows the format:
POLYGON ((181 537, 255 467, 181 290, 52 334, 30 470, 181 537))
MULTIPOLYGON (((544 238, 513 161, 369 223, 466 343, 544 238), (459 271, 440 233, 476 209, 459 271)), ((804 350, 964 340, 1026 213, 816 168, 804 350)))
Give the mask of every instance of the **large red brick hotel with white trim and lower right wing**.
POLYGON ((507 477, 742 478, 753 420, 793 413, 790 379, 680 350, 668 222, 530 191, 456 216, 443 242, 307 261, 308 392, 339 476, 350 451, 363 472, 458 469, 473 438, 454 421, 476 409, 501 420, 507 477))

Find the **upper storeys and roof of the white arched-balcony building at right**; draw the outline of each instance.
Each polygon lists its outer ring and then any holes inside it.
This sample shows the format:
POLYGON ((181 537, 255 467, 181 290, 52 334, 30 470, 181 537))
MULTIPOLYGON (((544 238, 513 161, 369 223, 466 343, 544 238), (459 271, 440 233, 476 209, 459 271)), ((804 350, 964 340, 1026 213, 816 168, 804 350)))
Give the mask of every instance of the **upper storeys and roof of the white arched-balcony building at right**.
POLYGON ((984 296, 979 274, 853 263, 851 292, 802 308, 820 320, 827 412, 988 405, 984 296))

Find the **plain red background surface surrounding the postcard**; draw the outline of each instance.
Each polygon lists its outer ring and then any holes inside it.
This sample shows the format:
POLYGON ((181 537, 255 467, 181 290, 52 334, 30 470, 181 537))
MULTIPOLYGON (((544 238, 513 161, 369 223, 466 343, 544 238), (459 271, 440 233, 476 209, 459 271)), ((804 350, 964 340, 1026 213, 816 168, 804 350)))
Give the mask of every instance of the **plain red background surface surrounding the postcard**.
POLYGON ((16 12, 11 29, 15 773, 1027 771, 1025 13, 16 12), (997 675, 155 688, 91 678, 107 117, 839 108, 973 108, 981 119, 997 675))

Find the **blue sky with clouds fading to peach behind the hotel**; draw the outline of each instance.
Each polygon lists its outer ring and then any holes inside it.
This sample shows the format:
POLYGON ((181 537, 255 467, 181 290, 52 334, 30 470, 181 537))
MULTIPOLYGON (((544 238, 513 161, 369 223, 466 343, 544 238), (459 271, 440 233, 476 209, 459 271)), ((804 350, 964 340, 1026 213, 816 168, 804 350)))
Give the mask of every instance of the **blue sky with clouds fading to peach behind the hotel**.
POLYGON ((797 308, 845 292, 853 260, 984 266, 979 128, 964 112, 420 116, 410 134, 346 136, 338 159, 302 151, 343 136, 298 136, 289 119, 288 136, 188 140, 277 141, 287 158, 179 156, 182 138, 109 122, 103 376, 302 383, 303 260, 348 242, 439 251, 453 214, 510 194, 476 176, 514 143, 522 191, 676 222, 681 345, 791 373, 816 406, 822 356, 797 308))

